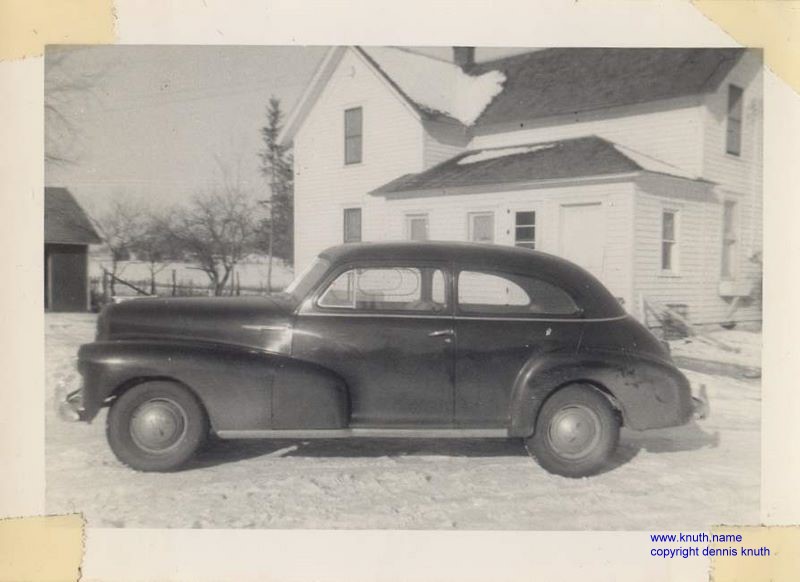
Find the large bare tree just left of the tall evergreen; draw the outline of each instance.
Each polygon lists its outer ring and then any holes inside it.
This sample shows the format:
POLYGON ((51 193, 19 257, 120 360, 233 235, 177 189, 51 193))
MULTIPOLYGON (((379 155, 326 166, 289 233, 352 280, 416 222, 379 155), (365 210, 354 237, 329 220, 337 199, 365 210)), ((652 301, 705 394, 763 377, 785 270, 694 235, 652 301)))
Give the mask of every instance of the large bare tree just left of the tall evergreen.
POLYGON ((219 186, 196 194, 176 209, 171 239, 209 278, 214 295, 223 295, 236 264, 253 248, 255 206, 238 177, 222 164, 219 186))

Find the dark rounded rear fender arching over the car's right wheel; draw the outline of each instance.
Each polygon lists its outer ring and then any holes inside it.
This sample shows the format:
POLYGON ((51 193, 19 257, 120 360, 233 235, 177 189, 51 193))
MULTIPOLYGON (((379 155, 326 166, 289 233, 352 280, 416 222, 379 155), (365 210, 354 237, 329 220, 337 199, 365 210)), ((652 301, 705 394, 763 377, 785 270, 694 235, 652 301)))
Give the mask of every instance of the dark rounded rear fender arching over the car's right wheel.
POLYGON ((686 377, 670 362, 629 352, 592 350, 532 358, 512 388, 509 435, 533 434, 539 410, 558 388, 585 383, 605 393, 635 430, 679 426, 692 415, 686 377))

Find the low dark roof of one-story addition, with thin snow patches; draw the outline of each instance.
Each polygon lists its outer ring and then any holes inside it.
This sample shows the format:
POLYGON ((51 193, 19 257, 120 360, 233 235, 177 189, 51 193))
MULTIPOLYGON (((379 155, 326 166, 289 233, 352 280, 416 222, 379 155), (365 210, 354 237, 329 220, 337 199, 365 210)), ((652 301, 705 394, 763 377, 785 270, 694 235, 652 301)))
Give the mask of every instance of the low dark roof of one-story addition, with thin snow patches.
POLYGON ((651 172, 698 180, 670 164, 596 136, 487 148, 461 153, 418 174, 406 174, 372 191, 394 197, 468 186, 651 172))

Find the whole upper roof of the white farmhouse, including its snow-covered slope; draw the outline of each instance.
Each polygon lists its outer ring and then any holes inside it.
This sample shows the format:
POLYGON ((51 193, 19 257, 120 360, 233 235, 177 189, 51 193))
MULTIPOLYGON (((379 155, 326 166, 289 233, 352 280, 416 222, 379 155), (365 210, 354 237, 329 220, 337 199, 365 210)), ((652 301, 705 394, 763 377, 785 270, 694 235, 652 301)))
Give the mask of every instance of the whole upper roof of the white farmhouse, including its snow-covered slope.
MULTIPOLYGON (((419 118, 486 127, 715 90, 746 49, 550 48, 454 63, 396 47, 350 47, 419 118)), ((346 47, 326 55, 281 131, 294 137, 346 47)))

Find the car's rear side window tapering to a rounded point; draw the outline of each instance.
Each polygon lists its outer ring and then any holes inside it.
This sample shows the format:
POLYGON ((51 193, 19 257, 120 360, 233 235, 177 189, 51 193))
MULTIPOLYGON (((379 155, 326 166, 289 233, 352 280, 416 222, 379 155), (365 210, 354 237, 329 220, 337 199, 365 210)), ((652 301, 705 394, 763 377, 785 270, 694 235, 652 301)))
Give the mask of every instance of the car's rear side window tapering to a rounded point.
POLYGON ((535 277, 461 271, 458 306, 464 313, 574 315, 578 306, 563 289, 535 277))

